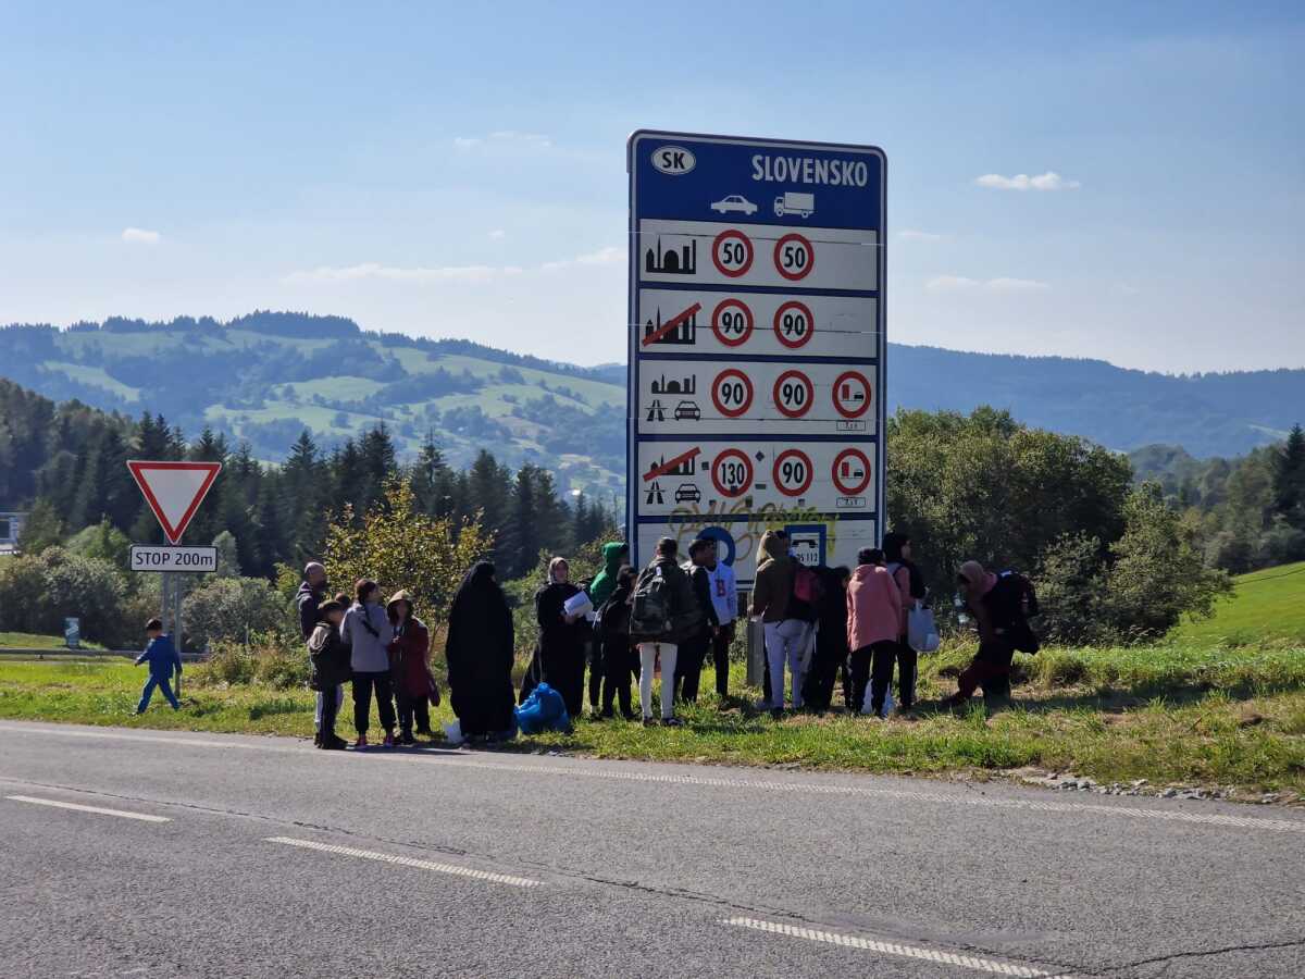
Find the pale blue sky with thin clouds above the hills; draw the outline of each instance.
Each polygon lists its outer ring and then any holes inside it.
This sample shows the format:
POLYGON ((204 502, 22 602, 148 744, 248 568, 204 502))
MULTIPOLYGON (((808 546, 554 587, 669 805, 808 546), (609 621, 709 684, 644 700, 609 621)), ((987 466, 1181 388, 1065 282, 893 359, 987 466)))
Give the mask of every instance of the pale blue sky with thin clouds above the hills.
POLYGON ((1305 8, 900 7, 8 3, 0 322, 620 360, 650 127, 882 146, 894 341, 1305 365, 1305 8))

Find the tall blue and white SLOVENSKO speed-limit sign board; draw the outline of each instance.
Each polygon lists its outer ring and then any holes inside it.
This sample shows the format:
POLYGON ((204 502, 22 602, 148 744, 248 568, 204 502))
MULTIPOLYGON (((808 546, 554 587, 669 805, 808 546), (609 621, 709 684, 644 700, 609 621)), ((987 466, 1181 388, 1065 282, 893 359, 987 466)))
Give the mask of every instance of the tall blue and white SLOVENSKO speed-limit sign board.
POLYGON ((883 520, 883 151, 639 131, 626 167, 633 560, 713 536, 749 587, 783 529, 855 565, 883 520))

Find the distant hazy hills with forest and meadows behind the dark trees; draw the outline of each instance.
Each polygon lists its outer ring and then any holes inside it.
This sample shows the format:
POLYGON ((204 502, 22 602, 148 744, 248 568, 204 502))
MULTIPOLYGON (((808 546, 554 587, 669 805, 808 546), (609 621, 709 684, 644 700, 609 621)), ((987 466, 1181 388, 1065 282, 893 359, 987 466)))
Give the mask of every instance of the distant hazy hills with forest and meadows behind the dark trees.
MULTIPOLYGON (((324 445, 384 420, 415 453, 428 431, 466 465, 493 445, 564 487, 615 489, 624 367, 581 368, 470 341, 364 333, 347 319, 261 312, 230 322, 112 319, 0 328, 0 376, 55 399, 209 426, 279 459, 308 427, 324 445)), ((1236 456, 1305 418, 1305 369, 1169 376, 1101 360, 890 346, 889 409, 1009 409, 1026 424, 1129 450, 1236 456)))

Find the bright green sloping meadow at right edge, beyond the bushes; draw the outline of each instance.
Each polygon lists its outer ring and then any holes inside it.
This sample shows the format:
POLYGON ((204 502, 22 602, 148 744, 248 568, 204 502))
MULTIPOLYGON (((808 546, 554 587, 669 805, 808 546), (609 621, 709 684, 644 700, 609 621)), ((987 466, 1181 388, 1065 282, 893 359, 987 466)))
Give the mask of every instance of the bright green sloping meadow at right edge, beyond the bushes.
POLYGON ((1305 644, 1305 561, 1242 574, 1212 619, 1184 623, 1176 642, 1241 645, 1279 637, 1305 644))

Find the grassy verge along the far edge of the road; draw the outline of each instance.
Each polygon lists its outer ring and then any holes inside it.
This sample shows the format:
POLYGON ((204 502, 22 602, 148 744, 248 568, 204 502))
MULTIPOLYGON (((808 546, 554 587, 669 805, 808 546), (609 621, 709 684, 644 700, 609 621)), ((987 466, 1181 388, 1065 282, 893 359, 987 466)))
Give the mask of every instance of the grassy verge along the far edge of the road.
MULTIPOLYGON (((937 700, 964 662, 945 649, 921 666, 923 706, 886 722, 834 713, 780 722, 745 701, 718 705, 710 668, 703 701, 681 728, 582 719, 574 734, 522 739, 509 751, 560 749, 604 758, 786 765, 985 777, 1010 769, 1071 771, 1098 782, 1148 779, 1305 795, 1305 649, 1054 649, 1021 657, 1013 709, 953 717, 937 700)), ((187 671, 184 706, 161 700, 132 715, 144 668, 114 663, 0 662, 0 717, 193 731, 312 734, 312 694, 298 687, 227 684, 187 671)), ((731 689, 743 687, 735 668, 731 689)), ((438 724, 452 721, 448 706, 438 724)), ((348 707, 339 728, 347 732, 348 707)))

